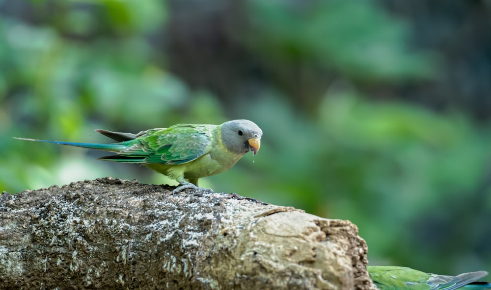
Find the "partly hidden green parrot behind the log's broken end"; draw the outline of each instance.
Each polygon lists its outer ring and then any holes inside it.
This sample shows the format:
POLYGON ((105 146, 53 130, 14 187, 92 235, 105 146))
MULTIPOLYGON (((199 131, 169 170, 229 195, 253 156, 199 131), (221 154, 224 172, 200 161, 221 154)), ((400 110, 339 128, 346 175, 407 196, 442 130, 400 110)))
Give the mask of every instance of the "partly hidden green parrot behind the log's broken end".
POLYGON ((370 279, 381 290, 491 290, 489 282, 474 282, 488 275, 477 271, 457 276, 429 274, 408 267, 367 266, 370 279))

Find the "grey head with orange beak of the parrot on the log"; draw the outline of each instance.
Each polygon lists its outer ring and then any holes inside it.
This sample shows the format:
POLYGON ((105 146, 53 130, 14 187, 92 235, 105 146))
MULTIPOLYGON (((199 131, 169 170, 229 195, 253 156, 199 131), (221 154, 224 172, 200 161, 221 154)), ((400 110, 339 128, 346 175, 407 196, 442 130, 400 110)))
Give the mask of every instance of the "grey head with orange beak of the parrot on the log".
POLYGON ((254 155, 261 146, 263 131, 249 120, 224 122, 221 127, 221 140, 228 150, 234 153, 252 151, 254 155))

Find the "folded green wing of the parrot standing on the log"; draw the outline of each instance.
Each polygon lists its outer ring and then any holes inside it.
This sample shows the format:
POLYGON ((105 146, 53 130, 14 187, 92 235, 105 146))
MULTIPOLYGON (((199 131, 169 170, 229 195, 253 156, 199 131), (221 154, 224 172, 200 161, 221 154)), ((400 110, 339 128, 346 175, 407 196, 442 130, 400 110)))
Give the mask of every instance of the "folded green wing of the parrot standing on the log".
POLYGON ((212 148, 212 126, 177 124, 152 129, 134 140, 122 142, 128 147, 118 155, 101 159, 128 163, 163 163, 177 165, 191 162, 212 148))

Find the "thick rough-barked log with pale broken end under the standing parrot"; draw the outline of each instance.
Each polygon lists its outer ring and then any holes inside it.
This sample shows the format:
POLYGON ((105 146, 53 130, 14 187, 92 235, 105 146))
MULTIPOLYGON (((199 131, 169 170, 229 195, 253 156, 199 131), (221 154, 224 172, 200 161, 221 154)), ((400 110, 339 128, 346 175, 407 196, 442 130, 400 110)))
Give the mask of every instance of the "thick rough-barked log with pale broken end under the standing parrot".
POLYGON ((347 220, 112 178, 0 195, 0 289, 372 289, 347 220))

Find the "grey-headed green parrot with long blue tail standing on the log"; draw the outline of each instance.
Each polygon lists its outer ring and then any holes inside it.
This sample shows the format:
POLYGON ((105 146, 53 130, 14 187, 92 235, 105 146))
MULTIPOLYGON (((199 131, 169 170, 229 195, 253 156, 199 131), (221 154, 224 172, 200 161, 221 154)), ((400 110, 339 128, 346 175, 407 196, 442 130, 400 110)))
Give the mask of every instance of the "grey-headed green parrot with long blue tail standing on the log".
POLYGON ((112 144, 72 143, 17 138, 114 152, 106 161, 143 164, 179 182, 173 193, 198 188, 198 179, 232 168, 247 152, 256 155, 262 130, 248 120, 220 125, 177 124, 137 134, 96 130, 118 141, 112 144))

